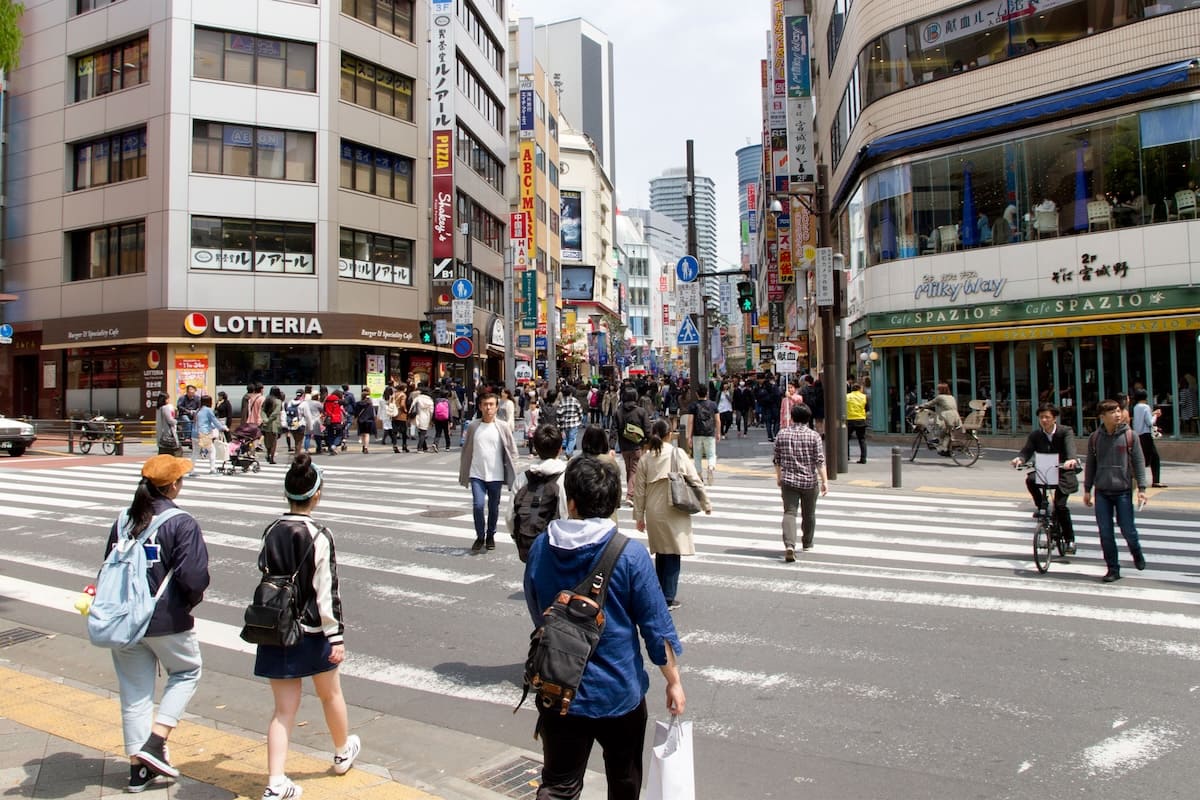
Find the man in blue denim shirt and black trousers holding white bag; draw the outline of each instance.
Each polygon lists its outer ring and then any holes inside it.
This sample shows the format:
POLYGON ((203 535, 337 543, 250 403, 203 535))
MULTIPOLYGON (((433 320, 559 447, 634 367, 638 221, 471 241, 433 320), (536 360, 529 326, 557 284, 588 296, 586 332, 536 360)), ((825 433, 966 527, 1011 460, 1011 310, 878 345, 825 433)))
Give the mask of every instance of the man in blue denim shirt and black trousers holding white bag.
MULTIPOLYGON (((559 591, 577 585, 595 569, 617 531, 610 519, 620 501, 616 465, 599 458, 576 458, 566 467, 563 487, 570 518, 550 523, 546 535, 534 541, 526 565, 526 606, 535 626, 542 624, 542 612, 559 591)), ((642 663, 638 631, 650 661, 666 678, 667 711, 684 711, 683 684, 676 667, 683 645, 650 555, 641 543, 629 542, 613 566, 604 613, 604 633, 566 715, 539 711, 544 764, 538 800, 580 796, 594 742, 604 750, 610 800, 636 800, 641 794, 650 679, 642 663)))

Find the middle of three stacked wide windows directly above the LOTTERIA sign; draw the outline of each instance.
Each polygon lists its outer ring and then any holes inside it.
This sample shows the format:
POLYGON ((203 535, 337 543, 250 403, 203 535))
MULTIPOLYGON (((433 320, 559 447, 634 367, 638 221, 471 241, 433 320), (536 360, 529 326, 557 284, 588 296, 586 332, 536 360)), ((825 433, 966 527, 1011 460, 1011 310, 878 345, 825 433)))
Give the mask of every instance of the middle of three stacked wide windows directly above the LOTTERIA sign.
POLYGON ((192 172, 287 181, 317 180, 317 136, 307 131, 192 122, 192 172))

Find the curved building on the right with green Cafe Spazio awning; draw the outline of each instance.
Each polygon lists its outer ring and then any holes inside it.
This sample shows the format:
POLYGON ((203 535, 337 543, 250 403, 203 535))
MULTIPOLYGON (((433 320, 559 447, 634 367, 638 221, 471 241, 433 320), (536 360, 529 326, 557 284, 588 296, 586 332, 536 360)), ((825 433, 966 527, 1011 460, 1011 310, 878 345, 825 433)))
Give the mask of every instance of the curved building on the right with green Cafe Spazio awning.
POLYGON ((1145 387, 1164 435, 1195 437, 1200 8, 817 5, 829 243, 875 428, 946 381, 996 433, 1042 402, 1086 432, 1145 387))

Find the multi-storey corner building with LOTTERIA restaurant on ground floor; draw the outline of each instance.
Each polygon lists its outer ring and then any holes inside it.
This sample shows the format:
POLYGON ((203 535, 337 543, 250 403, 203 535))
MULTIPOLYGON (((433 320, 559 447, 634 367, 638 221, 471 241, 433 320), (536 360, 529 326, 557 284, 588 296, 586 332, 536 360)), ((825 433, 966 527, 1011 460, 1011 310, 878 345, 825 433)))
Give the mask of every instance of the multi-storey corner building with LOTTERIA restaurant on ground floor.
MULTIPOLYGON (((250 5, 25 4, 5 242, 20 347, 0 365, 37 384, 22 411, 136 419, 185 384, 236 404, 250 383, 462 371, 419 341, 437 306, 430 5, 250 5)), ((474 252, 458 231, 454 269, 486 327, 503 311, 505 26, 492 0, 456 11, 454 213, 474 252)))

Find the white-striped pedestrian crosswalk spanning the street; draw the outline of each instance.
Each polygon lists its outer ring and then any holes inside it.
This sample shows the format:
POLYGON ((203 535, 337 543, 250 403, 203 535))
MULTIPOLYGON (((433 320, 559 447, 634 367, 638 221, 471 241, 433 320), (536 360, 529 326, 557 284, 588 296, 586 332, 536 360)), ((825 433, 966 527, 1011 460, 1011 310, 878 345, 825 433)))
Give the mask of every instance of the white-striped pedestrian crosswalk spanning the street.
MULTIPOLYGON (((337 543, 353 654, 346 673, 512 706, 518 672, 488 664, 512 666, 523 655, 529 618, 521 564, 504 534, 494 553, 469 553, 469 493, 457 486, 457 459, 346 458, 324 468, 317 516, 337 543)), ((133 463, 4 470, 0 597, 60 610, 64 620, 76 614, 72 603, 95 576, 108 527, 127 506, 137 470, 133 463)), ((185 481, 179 499, 200 522, 211 558, 212 587, 197 609, 202 640, 246 654, 247 662, 252 648, 238 637, 239 619, 262 531, 284 509, 284 470, 264 464, 259 474, 198 475, 185 481)), ((1190 518, 1141 516, 1150 566, 1145 572, 1128 566, 1126 579, 1108 585, 1098 582, 1104 565, 1094 523, 1081 512, 1075 513, 1079 554, 1038 575, 1027 503, 838 487, 818 503, 815 548, 785 564, 773 480, 722 476, 710 494, 714 513, 695 518, 697 554, 684 560, 684 608, 676 614, 690 686, 748 697, 769 688, 850 703, 923 702, 919 691, 901 691, 881 676, 911 655, 781 637, 770 619, 746 619, 746 608, 766 607, 823 614, 863 630, 886 620, 890 630, 908 626, 922 634, 986 619, 1043 626, 1051 640, 1079 636, 1075 628, 1086 620, 1097 648, 1182 658, 1193 662, 1190 669, 1200 661, 1200 522, 1190 518), (748 662, 746 652, 762 652, 761 662, 748 662), (808 662, 851 667, 818 680, 799 674, 808 662)), ((622 529, 641 537, 630 510, 619 513, 622 529)), ((994 709, 964 705, 961 714, 988 717, 994 709)), ((763 735, 761 720, 706 714, 703 706, 695 718, 706 735, 763 735)), ((800 735, 800 726, 773 720, 772 736, 800 735)), ((1085 745, 1094 742, 1079 746, 1085 745)))

